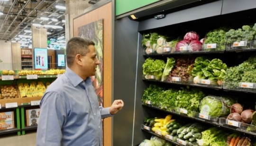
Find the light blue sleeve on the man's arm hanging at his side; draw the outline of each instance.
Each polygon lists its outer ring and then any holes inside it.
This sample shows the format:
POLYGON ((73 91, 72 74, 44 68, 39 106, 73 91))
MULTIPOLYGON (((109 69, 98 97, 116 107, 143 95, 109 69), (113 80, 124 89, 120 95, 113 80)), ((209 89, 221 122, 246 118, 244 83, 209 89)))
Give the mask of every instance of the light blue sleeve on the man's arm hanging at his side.
POLYGON ((61 129, 67 116, 64 100, 55 91, 47 92, 42 97, 37 125, 37 146, 61 146, 61 129))

